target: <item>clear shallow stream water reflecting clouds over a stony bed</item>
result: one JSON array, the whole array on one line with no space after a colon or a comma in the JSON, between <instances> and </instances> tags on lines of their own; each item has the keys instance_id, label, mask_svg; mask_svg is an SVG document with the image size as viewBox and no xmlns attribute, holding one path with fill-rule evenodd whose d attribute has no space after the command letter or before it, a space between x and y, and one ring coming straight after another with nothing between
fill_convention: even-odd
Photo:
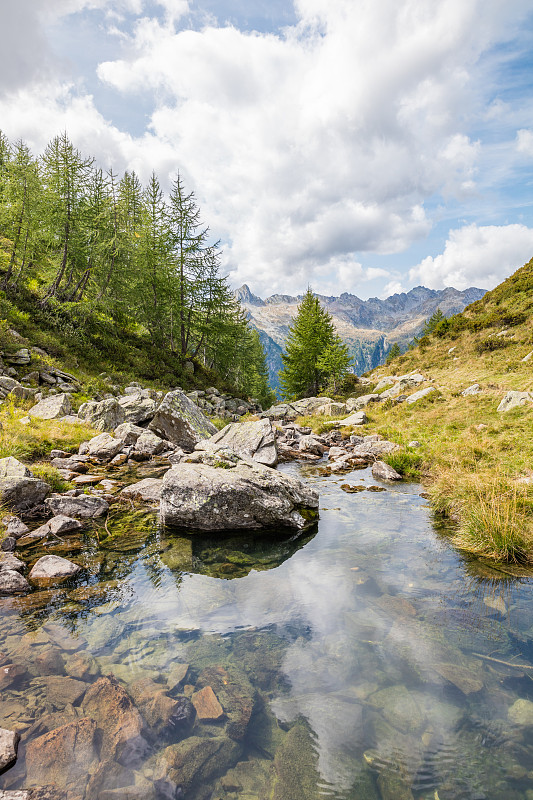
<instances>
[{"instance_id":1,"label":"clear shallow stream water reflecting clouds over a stony bed","mask_svg":"<svg viewBox=\"0 0 533 800\"><path fill-rule=\"evenodd\" d=\"M22 736L0 788L44 782L68 800L533 800L528 574L457 553L417 485L348 494L341 484L374 483L368 470L284 469L320 491L318 529L303 539L187 537L139 517L100 547L69 541L82 578L0 601L4 663L23 666L5 688L0 677L0 724ZM94 658L88 684L113 674L130 691L150 678L174 697L222 670L229 721L197 721L193 738L147 733L127 768L103 751L81 777L26 763L32 740L87 715L83 696L49 691L75 654ZM185 686L170 690L178 663ZM180 739L186 766L171 769Z\"/></svg>"}]
</instances>

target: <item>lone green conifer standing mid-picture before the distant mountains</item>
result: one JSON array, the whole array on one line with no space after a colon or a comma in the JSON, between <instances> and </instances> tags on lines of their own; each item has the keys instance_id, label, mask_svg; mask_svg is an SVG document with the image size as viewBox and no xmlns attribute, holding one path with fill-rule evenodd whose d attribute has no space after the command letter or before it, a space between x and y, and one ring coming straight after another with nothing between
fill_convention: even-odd
<instances>
[{"instance_id":1,"label":"lone green conifer standing mid-picture before the distant mountains","mask_svg":"<svg viewBox=\"0 0 533 800\"><path fill-rule=\"evenodd\" d=\"M320 366L320 360L328 347L335 347L336 341L339 339L330 314L309 288L298 307L285 342L285 351L281 354L283 369L279 377L284 397L290 399L318 393L328 376L328 370Z\"/></svg>"}]
</instances>

